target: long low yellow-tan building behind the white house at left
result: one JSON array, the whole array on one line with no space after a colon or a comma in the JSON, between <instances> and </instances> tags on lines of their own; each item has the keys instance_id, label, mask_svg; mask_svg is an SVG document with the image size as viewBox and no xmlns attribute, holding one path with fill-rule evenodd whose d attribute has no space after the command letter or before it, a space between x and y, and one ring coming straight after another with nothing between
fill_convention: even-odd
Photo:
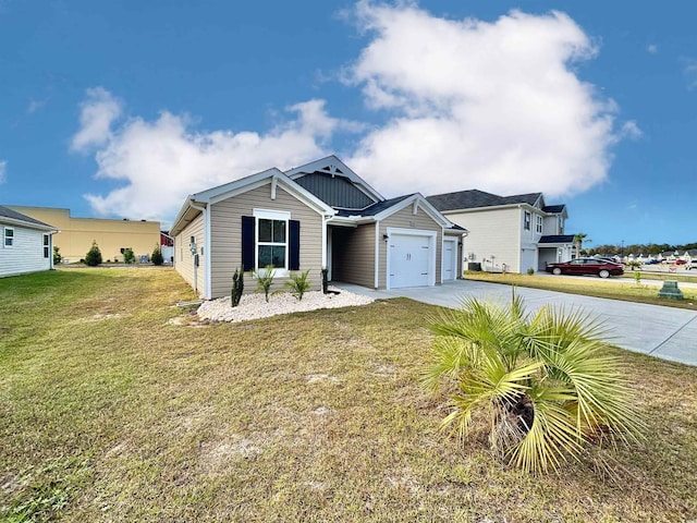
<instances>
[{"instance_id":1,"label":"long low yellow-tan building behind the white house at left","mask_svg":"<svg viewBox=\"0 0 697 523\"><path fill-rule=\"evenodd\" d=\"M70 209L54 207L9 206L36 220L51 223L60 234L56 246L64 263L80 262L93 242L97 242L103 260L123 262L123 253L131 248L136 259L152 254L160 244L160 222L146 220L112 220L103 218L75 218Z\"/></svg>"}]
</instances>

